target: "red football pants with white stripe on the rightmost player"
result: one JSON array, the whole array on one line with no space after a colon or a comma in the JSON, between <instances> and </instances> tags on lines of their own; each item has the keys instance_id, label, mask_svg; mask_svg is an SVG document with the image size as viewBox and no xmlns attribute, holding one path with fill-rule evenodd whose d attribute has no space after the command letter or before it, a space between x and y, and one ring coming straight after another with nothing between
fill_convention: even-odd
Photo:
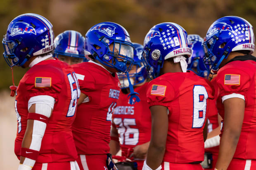
<instances>
[{"instance_id":1,"label":"red football pants with white stripe on the rightmost player","mask_svg":"<svg viewBox=\"0 0 256 170\"><path fill-rule=\"evenodd\" d=\"M233 158L228 170L256 170L256 160Z\"/></svg>"}]
</instances>

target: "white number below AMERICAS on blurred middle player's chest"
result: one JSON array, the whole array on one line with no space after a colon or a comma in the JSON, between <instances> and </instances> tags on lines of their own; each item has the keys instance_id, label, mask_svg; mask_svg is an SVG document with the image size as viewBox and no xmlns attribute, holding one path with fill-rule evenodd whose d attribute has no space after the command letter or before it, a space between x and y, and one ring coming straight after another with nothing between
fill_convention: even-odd
<instances>
[{"instance_id":1,"label":"white number below AMERICAS on blurred middle player's chest","mask_svg":"<svg viewBox=\"0 0 256 170\"><path fill-rule=\"evenodd\" d=\"M130 128L130 126L136 126L135 119L114 118L114 123L118 125L120 144L136 145L139 142L139 129Z\"/></svg>"}]
</instances>

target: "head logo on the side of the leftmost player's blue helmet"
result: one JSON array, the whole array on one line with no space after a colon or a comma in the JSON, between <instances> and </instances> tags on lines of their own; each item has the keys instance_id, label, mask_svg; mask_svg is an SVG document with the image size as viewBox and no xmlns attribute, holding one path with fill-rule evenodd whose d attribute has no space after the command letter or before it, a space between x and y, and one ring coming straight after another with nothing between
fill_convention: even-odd
<instances>
[{"instance_id":1,"label":"head logo on the side of the leftmost player's blue helmet","mask_svg":"<svg viewBox=\"0 0 256 170\"><path fill-rule=\"evenodd\" d=\"M11 29L11 36L24 34L24 33L33 33L36 35L36 29L25 22L17 22Z\"/></svg>"}]
</instances>

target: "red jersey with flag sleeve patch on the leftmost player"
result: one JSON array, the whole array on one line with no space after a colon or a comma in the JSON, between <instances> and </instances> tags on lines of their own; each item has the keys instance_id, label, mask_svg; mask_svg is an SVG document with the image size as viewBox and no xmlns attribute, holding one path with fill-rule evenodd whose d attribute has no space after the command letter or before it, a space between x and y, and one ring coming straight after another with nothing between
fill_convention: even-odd
<instances>
[{"instance_id":1,"label":"red jersey with flag sleeve patch on the leftmost player","mask_svg":"<svg viewBox=\"0 0 256 170\"><path fill-rule=\"evenodd\" d=\"M77 107L73 101L80 95L79 86L76 84L78 83L73 69L59 60L41 61L26 72L19 82L15 100L18 129L14 151L18 158L27 126L28 100L37 95L49 95L55 98L55 105L36 162L76 160L77 152L71 131Z\"/></svg>"}]
</instances>

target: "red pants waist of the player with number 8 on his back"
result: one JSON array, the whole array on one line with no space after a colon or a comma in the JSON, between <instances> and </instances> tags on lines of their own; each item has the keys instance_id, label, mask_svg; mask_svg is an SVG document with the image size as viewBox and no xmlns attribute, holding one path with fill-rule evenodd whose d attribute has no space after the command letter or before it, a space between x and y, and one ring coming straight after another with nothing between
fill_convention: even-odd
<instances>
[{"instance_id":1,"label":"red pants waist of the player with number 8 on his back","mask_svg":"<svg viewBox=\"0 0 256 170\"><path fill-rule=\"evenodd\" d=\"M191 164L191 163L171 163L163 162L162 170L203 170L200 163Z\"/></svg>"}]
</instances>

